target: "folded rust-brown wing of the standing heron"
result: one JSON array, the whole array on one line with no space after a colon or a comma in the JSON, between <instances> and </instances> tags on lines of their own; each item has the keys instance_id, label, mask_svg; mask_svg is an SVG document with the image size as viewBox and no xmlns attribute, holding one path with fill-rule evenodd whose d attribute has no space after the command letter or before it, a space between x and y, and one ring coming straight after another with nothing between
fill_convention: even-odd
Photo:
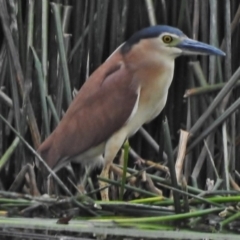
<instances>
[{"instance_id":1,"label":"folded rust-brown wing of the standing heron","mask_svg":"<svg viewBox=\"0 0 240 240\"><path fill-rule=\"evenodd\" d=\"M105 62L86 81L38 152L50 167L107 140L132 113L137 86L122 61Z\"/></svg>"}]
</instances>

